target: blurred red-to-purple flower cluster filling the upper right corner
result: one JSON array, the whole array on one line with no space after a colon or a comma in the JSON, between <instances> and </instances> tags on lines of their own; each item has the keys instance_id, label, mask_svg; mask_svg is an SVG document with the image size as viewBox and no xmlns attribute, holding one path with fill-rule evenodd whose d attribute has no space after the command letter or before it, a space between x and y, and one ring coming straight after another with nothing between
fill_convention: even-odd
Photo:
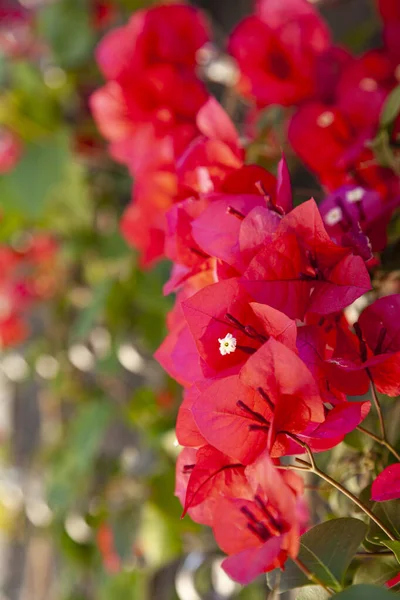
<instances>
[{"instance_id":1,"label":"blurred red-to-purple flower cluster filling the upper right corner","mask_svg":"<svg viewBox=\"0 0 400 600\"><path fill-rule=\"evenodd\" d=\"M332 192L321 206L329 233L358 221L367 234L374 230L374 251L384 247L400 201L398 176L377 162L371 148L382 107L400 80L397 3L377 0L377 8L384 44L361 56L335 46L326 24L303 0L284 7L258 0L255 14L229 42L240 68L238 89L255 108L292 108L290 145Z\"/></svg>"}]
</instances>

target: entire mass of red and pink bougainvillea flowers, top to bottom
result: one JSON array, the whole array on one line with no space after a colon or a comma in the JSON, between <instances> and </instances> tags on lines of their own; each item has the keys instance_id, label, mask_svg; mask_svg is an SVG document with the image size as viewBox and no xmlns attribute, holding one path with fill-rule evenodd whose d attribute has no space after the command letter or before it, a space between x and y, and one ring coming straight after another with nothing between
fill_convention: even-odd
<instances>
[{"instance_id":1,"label":"entire mass of red and pink bougainvillea flowers, top to bottom","mask_svg":"<svg viewBox=\"0 0 400 600\"><path fill-rule=\"evenodd\" d=\"M383 18L393 8L380 6ZM299 550L303 484L282 458L353 431L370 404L348 395L371 384L400 394L400 295L352 324L345 313L371 290L367 265L400 197L366 145L396 84L397 39L387 30L384 48L353 57L306 0L258 0L229 40L254 110L295 108L289 141L329 191L320 207L294 207L284 158L276 176L248 164L196 75L207 40L186 5L136 13L98 49L107 84L92 108L135 176L125 234L144 263L173 262L165 292L176 303L156 358L185 388L176 493L247 583Z\"/></svg>"}]
</instances>

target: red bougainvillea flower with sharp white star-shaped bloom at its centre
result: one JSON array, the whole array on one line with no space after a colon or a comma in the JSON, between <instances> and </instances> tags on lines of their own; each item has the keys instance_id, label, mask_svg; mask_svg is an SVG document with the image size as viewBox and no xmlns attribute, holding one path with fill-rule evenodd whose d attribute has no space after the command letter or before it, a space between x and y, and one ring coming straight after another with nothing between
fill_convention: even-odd
<instances>
[{"instance_id":1,"label":"red bougainvillea flower with sharp white star-shaped bloom at its centre","mask_svg":"<svg viewBox=\"0 0 400 600\"><path fill-rule=\"evenodd\" d=\"M208 376L242 365L270 337L295 349L295 322L251 300L237 279L228 279L203 288L182 304Z\"/></svg>"}]
</instances>

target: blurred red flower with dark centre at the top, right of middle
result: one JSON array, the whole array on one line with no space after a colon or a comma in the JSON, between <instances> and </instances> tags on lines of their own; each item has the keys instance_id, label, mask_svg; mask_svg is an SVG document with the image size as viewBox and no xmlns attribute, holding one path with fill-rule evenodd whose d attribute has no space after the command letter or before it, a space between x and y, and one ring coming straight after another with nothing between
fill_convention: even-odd
<instances>
[{"instance_id":1,"label":"blurred red flower with dark centre at the top, right of middle","mask_svg":"<svg viewBox=\"0 0 400 600\"><path fill-rule=\"evenodd\" d=\"M258 0L228 50L239 65L244 96L259 106L291 106L316 92L317 60L329 46L327 26L305 0L291 0L284 10L276 0Z\"/></svg>"}]
</instances>

